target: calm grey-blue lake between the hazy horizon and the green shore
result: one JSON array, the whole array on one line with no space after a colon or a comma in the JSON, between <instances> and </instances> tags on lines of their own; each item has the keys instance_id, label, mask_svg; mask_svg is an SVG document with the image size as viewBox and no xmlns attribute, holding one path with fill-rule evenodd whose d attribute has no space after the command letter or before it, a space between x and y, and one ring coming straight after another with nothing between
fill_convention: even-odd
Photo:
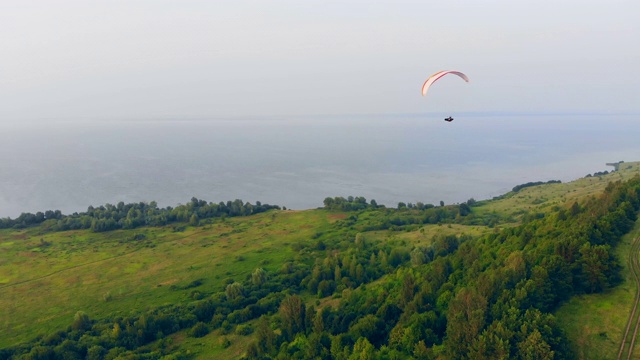
<instances>
[{"instance_id":1,"label":"calm grey-blue lake between the hazy horizon and the green shore","mask_svg":"<svg viewBox=\"0 0 640 360\"><path fill-rule=\"evenodd\" d=\"M193 196L456 203L640 160L638 115L446 115L0 122L0 217Z\"/></svg>"}]
</instances>

